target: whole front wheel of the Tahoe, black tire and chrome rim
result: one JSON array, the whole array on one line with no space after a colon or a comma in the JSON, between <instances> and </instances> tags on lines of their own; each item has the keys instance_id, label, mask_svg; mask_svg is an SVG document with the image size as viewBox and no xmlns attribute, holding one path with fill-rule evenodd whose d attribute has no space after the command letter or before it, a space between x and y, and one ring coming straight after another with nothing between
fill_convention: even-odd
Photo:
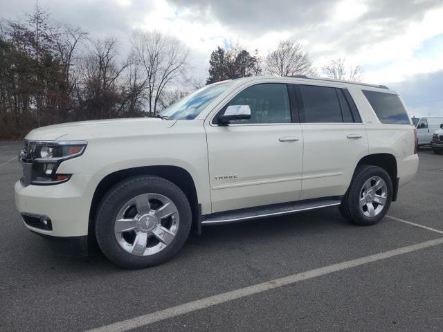
<instances>
[{"instance_id":1,"label":"whole front wheel of the Tahoe, black tire and chrome rim","mask_svg":"<svg viewBox=\"0 0 443 332\"><path fill-rule=\"evenodd\" d=\"M96 237L105 256L125 268L146 268L175 255L188 238L191 208L177 185L157 176L134 176L100 202Z\"/></svg>"}]
</instances>

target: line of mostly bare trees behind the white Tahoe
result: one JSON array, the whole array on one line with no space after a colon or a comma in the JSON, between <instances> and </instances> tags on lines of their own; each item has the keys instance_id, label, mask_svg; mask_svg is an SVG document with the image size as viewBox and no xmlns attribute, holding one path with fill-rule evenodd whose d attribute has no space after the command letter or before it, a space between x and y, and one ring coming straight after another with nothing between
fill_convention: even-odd
<instances>
[{"instance_id":1,"label":"line of mostly bare trees behind the white Tahoe","mask_svg":"<svg viewBox=\"0 0 443 332\"><path fill-rule=\"evenodd\" d=\"M127 55L114 37L91 39L80 27L54 23L35 4L15 21L0 21L0 139L79 120L156 116L204 82L192 76L190 50L159 32L134 30ZM361 80L344 59L321 69L337 79ZM241 46L217 47L206 84L251 75L314 75L303 46L292 39L260 57Z\"/></svg>"}]
</instances>

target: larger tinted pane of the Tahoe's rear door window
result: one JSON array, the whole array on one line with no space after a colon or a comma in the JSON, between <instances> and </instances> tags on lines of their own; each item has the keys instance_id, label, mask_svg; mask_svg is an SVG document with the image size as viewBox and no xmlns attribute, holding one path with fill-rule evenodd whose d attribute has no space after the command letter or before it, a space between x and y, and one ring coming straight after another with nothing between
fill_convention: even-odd
<instances>
[{"instance_id":1,"label":"larger tinted pane of the Tahoe's rear door window","mask_svg":"<svg viewBox=\"0 0 443 332\"><path fill-rule=\"evenodd\" d=\"M300 85L300 92L305 109L305 122L343 122L340 102L335 88Z\"/></svg>"}]
</instances>

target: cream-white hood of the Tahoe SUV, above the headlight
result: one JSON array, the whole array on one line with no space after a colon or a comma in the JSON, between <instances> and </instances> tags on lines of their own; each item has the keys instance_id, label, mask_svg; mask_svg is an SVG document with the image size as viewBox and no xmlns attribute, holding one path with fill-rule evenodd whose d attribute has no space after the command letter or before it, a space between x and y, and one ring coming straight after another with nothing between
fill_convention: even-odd
<instances>
[{"instance_id":1,"label":"cream-white hood of the Tahoe SUV, above the headlight","mask_svg":"<svg viewBox=\"0 0 443 332\"><path fill-rule=\"evenodd\" d=\"M26 140L87 140L108 136L143 135L155 130L170 128L174 120L161 118L128 118L68 122L33 129Z\"/></svg>"}]
</instances>

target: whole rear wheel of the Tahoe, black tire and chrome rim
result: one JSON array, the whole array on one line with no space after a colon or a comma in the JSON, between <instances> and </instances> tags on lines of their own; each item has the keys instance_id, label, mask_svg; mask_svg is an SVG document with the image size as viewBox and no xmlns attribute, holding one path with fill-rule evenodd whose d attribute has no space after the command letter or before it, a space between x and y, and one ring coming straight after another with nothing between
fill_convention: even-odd
<instances>
[{"instance_id":1,"label":"whole rear wheel of the Tahoe, black tire and chrome rim","mask_svg":"<svg viewBox=\"0 0 443 332\"><path fill-rule=\"evenodd\" d=\"M340 210L358 225L374 225L388 212L392 201L392 181L381 167L362 165L354 174Z\"/></svg>"}]
</instances>

